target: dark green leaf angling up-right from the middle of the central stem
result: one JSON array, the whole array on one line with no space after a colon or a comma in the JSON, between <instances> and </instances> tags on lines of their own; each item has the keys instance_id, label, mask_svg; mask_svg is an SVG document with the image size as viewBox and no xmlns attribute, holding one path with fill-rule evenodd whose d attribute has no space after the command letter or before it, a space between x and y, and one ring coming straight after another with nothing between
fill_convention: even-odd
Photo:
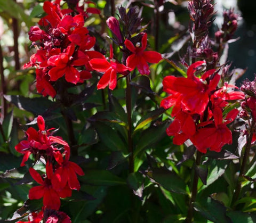
<instances>
[{"instance_id":1,"label":"dark green leaf angling up-right from the middle of the central stem","mask_svg":"<svg viewBox=\"0 0 256 223\"><path fill-rule=\"evenodd\" d=\"M139 137L139 142L134 151L134 157L138 156L146 148L161 141L166 136L166 128L170 125L170 122L164 122L157 126L150 126L144 130Z\"/></svg>"}]
</instances>

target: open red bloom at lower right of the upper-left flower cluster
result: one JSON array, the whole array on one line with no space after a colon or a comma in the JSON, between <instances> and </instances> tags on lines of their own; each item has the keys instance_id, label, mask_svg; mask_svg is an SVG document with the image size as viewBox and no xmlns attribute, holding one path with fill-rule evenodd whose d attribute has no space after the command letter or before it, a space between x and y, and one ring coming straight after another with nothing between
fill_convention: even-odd
<instances>
[{"instance_id":1,"label":"open red bloom at lower right of the upper-left flower cluster","mask_svg":"<svg viewBox=\"0 0 256 223\"><path fill-rule=\"evenodd\" d=\"M77 51L75 54L74 52L75 45L69 45L65 53L49 58L48 64L55 66L49 70L50 80L55 81L65 75L68 82L76 84L79 81L80 74L74 66L84 65L88 61L88 57L82 51Z\"/></svg>"}]
</instances>

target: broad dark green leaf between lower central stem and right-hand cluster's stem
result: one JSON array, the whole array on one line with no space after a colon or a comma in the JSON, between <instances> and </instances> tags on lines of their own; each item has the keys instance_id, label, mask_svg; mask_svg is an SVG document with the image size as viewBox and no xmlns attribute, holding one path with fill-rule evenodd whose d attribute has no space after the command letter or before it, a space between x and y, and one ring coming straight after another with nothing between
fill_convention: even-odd
<instances>
[{"instance_id":1,"label":"broad dark green leaf between lower central stem and right-hand cluster's stem","mask_svg":"<svg viewBox=\"0 0 256 223\"><path fill-rule=\"evenodd\" d=\"M147 173L147 176L168 191L181 194L187 193L185 182L178 175L169 170L153 169Z\"/></svg>"}]
</instances>

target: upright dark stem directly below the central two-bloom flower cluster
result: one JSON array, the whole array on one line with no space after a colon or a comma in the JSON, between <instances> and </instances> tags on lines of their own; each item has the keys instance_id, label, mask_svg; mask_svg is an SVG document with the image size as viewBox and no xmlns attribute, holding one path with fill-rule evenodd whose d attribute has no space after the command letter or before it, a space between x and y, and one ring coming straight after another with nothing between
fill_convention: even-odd
<instances>
[{"instance_id":1,"label":"upright dark stem directly below the central two-bloom flower cluster","mask_svg":"<svg viewBox=\"0 0 256 223\"><path fill-rule=\"evenodd\" d=\"M129 149L129 170L134 172L134 157L133 157L133 145L132 145L132 98L131 98L131 74L126 76L126 110L127 110L127 121L128 121L128 149Z\"/></svg>"}]
</instances>

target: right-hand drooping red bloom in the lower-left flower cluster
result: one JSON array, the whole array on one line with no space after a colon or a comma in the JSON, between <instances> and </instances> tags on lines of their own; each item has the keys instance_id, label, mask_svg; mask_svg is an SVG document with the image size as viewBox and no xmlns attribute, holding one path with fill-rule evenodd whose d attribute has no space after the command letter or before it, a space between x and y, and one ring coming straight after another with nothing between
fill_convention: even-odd
<instances>
[{"instance_id":1,"label":"right-hand drooping red bloom in the lower-left flower cluster","mask_svg":"<svg viewBox=\"0 0 256 223\"><path fill-rule=\"evenodd\" d=\"M78 174L79 176L83 176L84 172L76 163L69 161L70 148L65 148L65 159L62 158L62 154L59 151L54 153L55 160L58 162L59 167L54 172L52 184L58 191L66 187L67 184L70 189L76 189L79 191L80 184L76 175Z\"/></svg>"}]
</instances>

